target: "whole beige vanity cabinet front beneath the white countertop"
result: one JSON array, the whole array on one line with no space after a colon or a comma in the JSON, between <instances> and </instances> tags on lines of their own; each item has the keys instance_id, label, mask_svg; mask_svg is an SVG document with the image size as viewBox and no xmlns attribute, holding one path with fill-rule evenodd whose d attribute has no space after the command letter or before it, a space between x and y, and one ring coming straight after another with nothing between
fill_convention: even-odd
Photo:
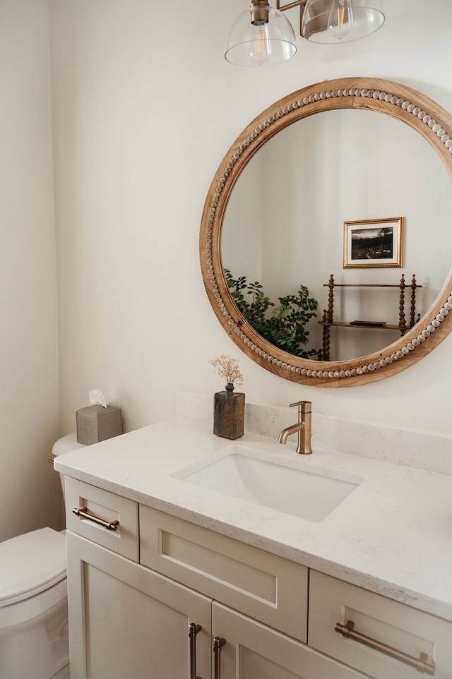
<instances>
[{"instance_id":1,"label":"whole beige vanity cabinet front beneath the white countertop","mask_svg":"<svg viewBox=\"0 0 452 679\"><path fill-rule=\"evenodd\" d=\"M71 679L452 678L452 623L66 481Z\"/></svg>"}]
</instances>

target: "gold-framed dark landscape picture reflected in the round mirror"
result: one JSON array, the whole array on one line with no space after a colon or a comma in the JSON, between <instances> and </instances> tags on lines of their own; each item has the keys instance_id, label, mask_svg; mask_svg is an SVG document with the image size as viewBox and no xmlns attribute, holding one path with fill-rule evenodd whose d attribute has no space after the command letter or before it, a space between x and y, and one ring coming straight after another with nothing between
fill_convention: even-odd
<instances>
[{"instance_id":1,"label":"gold-framed dark landscape picture reflected in the round mirror","mask_svg":"<svg viewBox=\"0 0 452 679\"><path fill-rule=\"evenodd\" d=\"M344 269L402 266L403 217L344 222Z\"/></svg>"}]
</instances>

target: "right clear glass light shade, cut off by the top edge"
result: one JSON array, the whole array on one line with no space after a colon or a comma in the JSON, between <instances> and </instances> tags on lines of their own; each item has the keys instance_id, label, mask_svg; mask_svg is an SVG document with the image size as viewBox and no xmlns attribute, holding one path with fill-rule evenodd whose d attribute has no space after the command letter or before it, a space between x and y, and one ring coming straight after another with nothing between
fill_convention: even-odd
<instances>
[{"instance_id":1,"label":"right clear glass light shade, cut off by the top edge","mask_svg":"<svg viewBox=\"0 0 452 679\"><path fill-rule=\"evenodd\" d=\"M307 0L302 36L311 42L351 42L384 23L382 0Z\"/></svg>"}]
</instances>

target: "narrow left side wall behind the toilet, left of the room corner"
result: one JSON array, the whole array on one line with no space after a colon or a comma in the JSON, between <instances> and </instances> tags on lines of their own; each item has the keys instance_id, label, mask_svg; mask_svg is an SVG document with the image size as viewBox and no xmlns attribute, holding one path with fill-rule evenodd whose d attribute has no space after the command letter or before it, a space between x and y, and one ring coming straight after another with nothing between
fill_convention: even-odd
<instances>
[{"instance_id":1,"label":"narrow left side wall behind the toilet, left of the room corner","mask_svg":"<svg viewBox=\"0 0 452 679\"><path fill-rule=\"evenodd\" d=\"M62 516L47 0L0 1L0 90L2 541Z\"/></svg>"}]
</instances>

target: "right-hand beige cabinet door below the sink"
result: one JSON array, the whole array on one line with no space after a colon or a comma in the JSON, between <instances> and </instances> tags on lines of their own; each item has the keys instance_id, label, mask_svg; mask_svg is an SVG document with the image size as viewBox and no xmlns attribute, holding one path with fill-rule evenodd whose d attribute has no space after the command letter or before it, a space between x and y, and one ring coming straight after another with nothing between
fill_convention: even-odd
<instances>
[{"instance_id":1,"label":"right-hand beige cabinet door below the sink","mask_svg":"<svg viewBox=\"0 0 452 679\"><path fill-rule=\"evenodd\" d=\"M216 601L213 637L224 639L215 679L366 679L271 627Z\"/></svg>"}]
</instances>

